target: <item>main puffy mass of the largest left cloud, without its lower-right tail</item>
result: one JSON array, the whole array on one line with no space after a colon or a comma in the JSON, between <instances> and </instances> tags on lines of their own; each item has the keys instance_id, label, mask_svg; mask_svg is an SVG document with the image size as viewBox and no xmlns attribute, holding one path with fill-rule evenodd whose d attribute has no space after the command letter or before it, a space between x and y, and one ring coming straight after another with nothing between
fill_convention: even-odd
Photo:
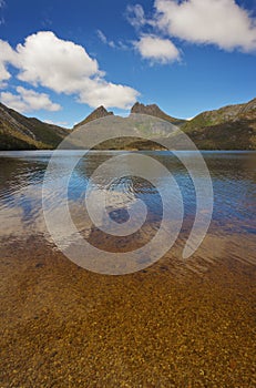
<instances>
[{"instance_id":1,"label":"main puffy mass of the largest left cloud, without its lower-right tail","mask_svg":"<svg viewBox=\"0 0 256 388\"><path fill-rule=\"evenodd\" d=\"M18 44L19 80L41 84L55 92L74 93L81 82L100 74L98 62L86 51L70 41L64 41L50 31L40 31Z\"/></svg>"}]
</instances>

